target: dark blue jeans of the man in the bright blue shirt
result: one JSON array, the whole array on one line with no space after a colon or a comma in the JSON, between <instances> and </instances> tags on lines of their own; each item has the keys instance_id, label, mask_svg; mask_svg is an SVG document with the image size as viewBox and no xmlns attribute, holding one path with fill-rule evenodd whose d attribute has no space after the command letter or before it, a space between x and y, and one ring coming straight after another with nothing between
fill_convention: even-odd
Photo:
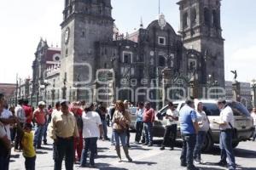
<instances>
[{"instance_id":1,"label":"dark blue jeans of the man in the bright blue shirt","mask_svg":"<svg viewBox=\"0 0 256 170\"><path fill-rule=\"evenodd\" d=\"M182 163L187 163L187 169L194 169L193 151L195 149L195 134L182 134L183 150L181 152L180 160Z\"/></svg>"}]
</instances>

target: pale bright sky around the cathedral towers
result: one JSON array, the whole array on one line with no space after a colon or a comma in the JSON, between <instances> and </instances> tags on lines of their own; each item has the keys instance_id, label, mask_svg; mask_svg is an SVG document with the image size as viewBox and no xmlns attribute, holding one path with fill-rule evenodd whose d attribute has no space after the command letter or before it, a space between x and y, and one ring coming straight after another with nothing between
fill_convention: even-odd
<instances>
[{"instance_id":1,"label":"pale bright sky around the cathedral towers","mask_svg":"<svg viewBox=\"0 0 256 170\"><path fill-rule=\"evenodd\" d=\"M179 28L178 0L160 0L160 12L175 31ZM121 32L131 32L157 19L158 0L112 0L113 19ZM49 46L61 44L64 0L8 0L0 6L0 82L32 77L32 61L40 38ZM256 78L256 1L222 0L221 24L225 79L250 82Z\"/></svg>"}]
</instances>

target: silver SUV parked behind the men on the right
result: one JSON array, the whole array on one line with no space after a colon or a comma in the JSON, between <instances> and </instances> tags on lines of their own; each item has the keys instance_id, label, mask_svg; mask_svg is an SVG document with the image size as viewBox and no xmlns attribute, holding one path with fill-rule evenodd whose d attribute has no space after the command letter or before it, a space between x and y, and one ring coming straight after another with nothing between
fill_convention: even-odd
<instances>
[{"instance_id":1,"label":"silver SUV parked behind the men on the right","mask_svg":"<svg viewBox=\"0 0 256 170\"><path fill-rule=\"evenodd\" d=\"M201 99L204 107L203 110L207 113L210 121L210 130L207 132L207 138L202 150L211 150L213 144L219 143L219 127L218 124L212 123L213 120L218 121L220 111L218 110L217 100ZM185 105L184 100L173 102L177 111ZM233 139L233 147L235 148L239 142L249 140L254 132L253 119L250 113L247 111L246 107L240 102L227 101L234 112L235 117L235 132L236 138ZM154 122L153 135L155 137L163 137L165 133L167 120L165 119L166 111L168 106L163 107L156 116L156 121ZM180 138L180 126L177 125L177 138Z\"/></svg>"}]
</instances>

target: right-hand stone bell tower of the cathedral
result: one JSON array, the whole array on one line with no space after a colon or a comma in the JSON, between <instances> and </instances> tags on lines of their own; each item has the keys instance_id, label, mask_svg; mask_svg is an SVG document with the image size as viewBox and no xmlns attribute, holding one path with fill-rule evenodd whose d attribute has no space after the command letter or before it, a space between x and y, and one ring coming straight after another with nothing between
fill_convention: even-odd
<instances>
[{"instance_id":1,"label":"right-hand stone bell tower of the cathedral","mask_svg":"<svg viewBox=\"0 0 256 170\"><path fill-rule=\"evenodd\" d=\"M185 48L201 53L202 82L211 75L224 87L224 38L220 26L221 0L180 0L180 34Z\"/></svg>"}]
</instances>

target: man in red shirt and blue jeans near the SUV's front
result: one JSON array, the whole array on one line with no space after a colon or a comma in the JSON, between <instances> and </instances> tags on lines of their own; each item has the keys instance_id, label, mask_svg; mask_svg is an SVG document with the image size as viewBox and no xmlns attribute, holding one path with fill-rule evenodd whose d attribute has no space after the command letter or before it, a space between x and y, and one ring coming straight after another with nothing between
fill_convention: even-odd
<instances>
[{"instance_id":1,"label":"man in red shirt and blue jeans near the SUV's front","mask_svg":"<svg viewBox=\"0 0 256 170\"><path fill-rule=\"evenodd\" d=\"M143 145L152 146L153 145L152 127L154 122L154 109L151 108L149 102L145 102L144 107L145 107L145 110L143 113L143 126L144 126L146 141Z\"/></svg>"}]
</instances>

